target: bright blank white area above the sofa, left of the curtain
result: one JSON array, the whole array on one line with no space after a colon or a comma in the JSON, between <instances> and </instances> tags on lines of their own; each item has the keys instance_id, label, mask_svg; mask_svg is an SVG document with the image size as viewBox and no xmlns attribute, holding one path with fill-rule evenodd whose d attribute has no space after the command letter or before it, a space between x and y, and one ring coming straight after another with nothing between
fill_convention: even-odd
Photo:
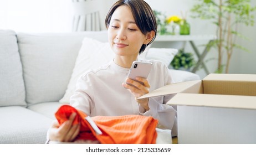
<instances>
[{"instance_id":1,"label":"bright blank white area above the sofa, left of the curtain","mask_svg":"<svg viewBox=\"0 0 256 155\"><path fill-rule=\"evenodd\" d=\"M0 0L0 29L70 32L71 0Z\"/></svg>"}]
</instances>

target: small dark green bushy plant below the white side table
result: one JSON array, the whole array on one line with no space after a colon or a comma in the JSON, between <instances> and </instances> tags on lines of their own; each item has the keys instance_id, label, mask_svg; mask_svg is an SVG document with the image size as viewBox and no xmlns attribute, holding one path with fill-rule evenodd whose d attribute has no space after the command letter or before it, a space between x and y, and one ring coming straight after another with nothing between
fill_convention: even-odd
<instances>
[{"instance_id":1,"label":"small dark green bushy plant below the white side table","mask_svg":"<svg viewBox=\"0 0 256 155\"><path fill-rule=\"evenodd\" d=\"M173 69L190 71L195 61L192 53L186 53L184 49L180 49L171 61Z\"/></svg>"}]
</instances>

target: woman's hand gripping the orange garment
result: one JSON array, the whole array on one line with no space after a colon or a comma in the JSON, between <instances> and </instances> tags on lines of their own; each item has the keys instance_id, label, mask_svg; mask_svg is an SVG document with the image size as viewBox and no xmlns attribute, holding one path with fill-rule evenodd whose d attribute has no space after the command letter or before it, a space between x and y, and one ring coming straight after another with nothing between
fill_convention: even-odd
<instances>
[{"instance_id":1,"label":"woman's hand gripping the orange garment","mask_svg":"<svg viewBox=\"0 0 256 155\"><path fill-rule=\"evenodd\" d=\"M50 141L71 142L78 136L80 131L80 124L72 125L75 119L76 113L72 113L68 121L65 121L62 125L59 125L58 121L54 121L49 129Z\"/></svg>"}]
</instances>

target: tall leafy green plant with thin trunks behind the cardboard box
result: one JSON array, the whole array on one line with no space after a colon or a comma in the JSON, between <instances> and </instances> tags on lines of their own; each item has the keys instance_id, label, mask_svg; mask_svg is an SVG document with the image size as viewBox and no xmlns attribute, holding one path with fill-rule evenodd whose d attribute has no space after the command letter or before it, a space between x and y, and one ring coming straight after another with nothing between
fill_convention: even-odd
<instances>
[{"instance_id":1,"label":"tall leafy green plant with thin trunks behind the cardboard box","mask_svg":"<svg viewBox=\"0 0 256 155\"><path fill-rule=\"evenodd\" d=\"M236 38L244 39L239 33L238 25L253 25L252 14L256 7L250 6L250 0L198 0L198 4L191 9L193 18L208 19L216 25L217 39L212 42L218 51L218 68L216 73L223 73L223 66L226 66L225 73L228 73L229 63L234 48L248 51L237 44ZM223 55L227 55L226 62L223 62Z\"/></svg>"}]
</instances>

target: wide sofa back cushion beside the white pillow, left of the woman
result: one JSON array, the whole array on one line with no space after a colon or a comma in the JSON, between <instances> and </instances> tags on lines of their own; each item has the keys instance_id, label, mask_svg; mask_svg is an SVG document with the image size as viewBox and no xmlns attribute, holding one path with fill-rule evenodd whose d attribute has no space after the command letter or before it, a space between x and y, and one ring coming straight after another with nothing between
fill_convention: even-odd
<instances>
[{"instance_id":1,"label":"wide sofa back cushion beside the white pillow, left of the woman","mask_svg":"<svg viewBox=\"0 0 256 155\"><path fill-rule=\"evenodd\" d=\"M106 31L17 34L28 105L63 97L84 37L107 41Z\"/></svg>"}]
</instances>

